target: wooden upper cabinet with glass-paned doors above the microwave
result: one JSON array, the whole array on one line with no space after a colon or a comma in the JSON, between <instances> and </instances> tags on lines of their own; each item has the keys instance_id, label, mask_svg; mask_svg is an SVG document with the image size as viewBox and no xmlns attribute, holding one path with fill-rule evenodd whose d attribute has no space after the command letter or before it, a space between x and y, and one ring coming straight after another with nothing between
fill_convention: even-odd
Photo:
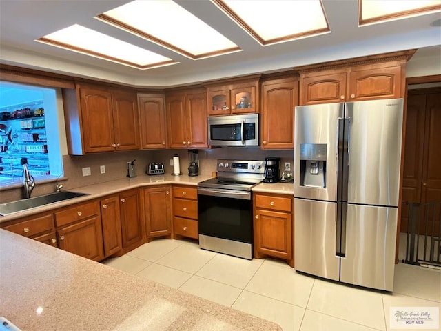
<instances>
[{"instance_id":1,"label":"wooden upper cabinet with glass-paned doors above the microwave","mask_svg":"<svg viewBox=\"0 0 441 331\"><path fill-rule=\"evenodd\" d=\"M259 77L223 81L207 87L208 115L249 114L259 112Z\"/></svg>"}]
</instances>

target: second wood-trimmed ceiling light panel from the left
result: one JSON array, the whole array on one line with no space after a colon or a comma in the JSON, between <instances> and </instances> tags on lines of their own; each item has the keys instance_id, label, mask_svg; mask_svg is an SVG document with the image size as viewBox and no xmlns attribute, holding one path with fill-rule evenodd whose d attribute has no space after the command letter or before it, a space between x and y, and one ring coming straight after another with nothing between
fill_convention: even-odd
<instances>
[{"instance_id":1,"label":"second wood-trimmed ceiling light panel from the left","mask_svg":"<svg viewBox=\"0 0 441 331\"><path fill-rule=\"evenodd\" d=\"M96 17L191 59L235 52L238 46L171 0L137 0Z\"/></svg>"}]
</instances>

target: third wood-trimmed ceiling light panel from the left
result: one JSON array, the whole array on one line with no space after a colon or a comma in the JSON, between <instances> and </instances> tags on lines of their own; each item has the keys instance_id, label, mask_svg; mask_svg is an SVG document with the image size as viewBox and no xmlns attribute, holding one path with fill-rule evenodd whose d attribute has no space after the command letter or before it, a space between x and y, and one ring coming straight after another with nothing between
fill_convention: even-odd
<instances>
[{"instance_id":1,"label":"third wood-trimmed ceiling light panel from the left","mask_svg":"<svg viewBox=\"0 0 441 331\"><path fill-rule=\"evenodd\" d=\"M212 0L262 45L329 32L320 0Z\"/></svg>"}]
</instances>

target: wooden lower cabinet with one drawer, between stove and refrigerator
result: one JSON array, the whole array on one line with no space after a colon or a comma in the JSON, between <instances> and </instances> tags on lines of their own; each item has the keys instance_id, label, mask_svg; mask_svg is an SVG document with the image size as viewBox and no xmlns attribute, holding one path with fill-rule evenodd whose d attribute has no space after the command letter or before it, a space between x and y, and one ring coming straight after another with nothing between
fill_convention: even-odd
<instances>
[{"instance_id":1,"label":"wooden lower cabinet with one drawer, between stove and refrigerator","mask_svg":"<svg viewBox=\"0 0 441 331\"><path fill-rule=\"evenodd\" d=\"M284 259L294 268L293 198L253 194L254 258Z\"/></svg>"}]
</instances>

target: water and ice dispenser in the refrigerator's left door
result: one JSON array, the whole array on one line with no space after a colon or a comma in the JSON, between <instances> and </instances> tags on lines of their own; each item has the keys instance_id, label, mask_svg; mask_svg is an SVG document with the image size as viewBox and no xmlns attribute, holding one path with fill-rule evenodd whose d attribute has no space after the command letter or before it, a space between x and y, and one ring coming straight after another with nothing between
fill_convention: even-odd
<instances>
[{"instance_id":1,"label":"water and ice dispenser in the refrigerator's left door","mask_svg":"<svg viewBox=\"0 0 441 331\"><path fill-rule=\"evenodd\" d=\"M325 143L300 144L300 186L326 188Z\"/></svg>"}]
</instances>

